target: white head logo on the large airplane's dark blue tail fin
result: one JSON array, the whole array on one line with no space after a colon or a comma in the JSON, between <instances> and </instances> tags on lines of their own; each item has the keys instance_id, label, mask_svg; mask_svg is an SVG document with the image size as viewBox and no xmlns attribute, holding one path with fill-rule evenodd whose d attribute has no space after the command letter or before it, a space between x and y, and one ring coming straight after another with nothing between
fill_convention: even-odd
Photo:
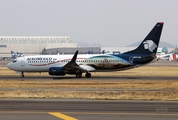
<instances>
[{"instance_id":1,"label":"white head logo on the large airplane's dark blue tail fin","mask_svg":"<svg viewBox=\"0 0 178 120\"><path fill-rule=\"evenodd\" d=\"M144 45L144 48L148 49L150 52L153 52L157 48L157 45L152 40L144 41L143 45Z\"/></svg>"}]
</instances>

